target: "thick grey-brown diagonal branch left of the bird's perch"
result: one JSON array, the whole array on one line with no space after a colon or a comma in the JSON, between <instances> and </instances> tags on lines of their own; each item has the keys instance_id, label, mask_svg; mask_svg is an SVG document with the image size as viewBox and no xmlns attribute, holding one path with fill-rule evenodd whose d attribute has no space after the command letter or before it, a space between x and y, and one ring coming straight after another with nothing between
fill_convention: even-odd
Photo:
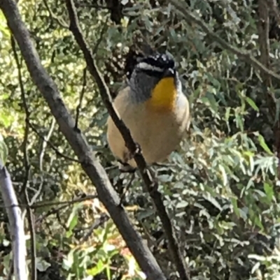
<instances>
[{"instance_id":1,"label":"thick grey-brown diagonal branch left of the bird's perch","mask_svg":"<svg viewBox=\"0 0 280 280\"><path fill-rule=\"evenodd\" d=\"M116 223L120 234L123 236L130 251L132 251L141 270L146 273L148 279L166 280L151 251L132 226L125 209L120 205L120 198L113 189L104 168L92 155L92 151L83 135L75 129L75 121L69 115L60 97L57 85L45 71L45 68L43 68L38 53L31 42L27 27L22 22L15 1L0 0L0 8L3 10L8 27L20 47L31 79L48 103L52 115L59 124L60 130L78 156L83 170L85 170L92 183L96 186L99 200L105 205L114 223Z\"/></svg>"}]
</instances>

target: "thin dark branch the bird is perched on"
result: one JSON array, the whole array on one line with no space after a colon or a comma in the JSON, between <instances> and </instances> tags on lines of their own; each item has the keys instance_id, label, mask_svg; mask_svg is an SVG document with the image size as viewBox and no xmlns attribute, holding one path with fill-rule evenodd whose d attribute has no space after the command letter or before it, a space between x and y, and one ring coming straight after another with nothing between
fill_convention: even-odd
<instances>
[{"instance_id":1,"label":"thin dark branch the bird is perched on","mask_svg":"<svg viewBox=\"0 0 280 280\"><path fill-rule=\"evenodd\" d=\"M148 193L150 193L151 198L153 198L155 208L157 209L158 215L160 216L162 226L165 230L165 234L167 235L167 239L169 241L169 249L172 253L176 269L179 272L181 280L188 280L189 277L186 268L186 263L181 254L181 250L176 240L176 234L174 233L174 228L165 209L165 205L162 202L161 193L158 191L158 182L156 182L155 179L152 178L151 173L148 171L148 168L146 166L144 157L141 155L141 152L137 148L137 145L135 144L134 140L132 139L130 131L127 129L123 121L118 117L116 111L113 108L109 89L104 82L104 78L99 73L97 65L94 59L92 58L92 54L90 53L90 49L87 47L87 43L85 42L83 34L80 30L73 0L66 0L66 6L68 9L70 20L69 28L72 31L73 36L75 37L78 45L80 46L80 49L83 51L88 71L97 83L102 100L106 105L106 108L109 111L109 114L113 119L114 123L116 124L118 130L123 135L123 139L125 140L127 148L130 150L130 153L134 155L134 159L139 168L140 175L144 181L144 186L146 187Z\"/></svg>"}]
</instances>

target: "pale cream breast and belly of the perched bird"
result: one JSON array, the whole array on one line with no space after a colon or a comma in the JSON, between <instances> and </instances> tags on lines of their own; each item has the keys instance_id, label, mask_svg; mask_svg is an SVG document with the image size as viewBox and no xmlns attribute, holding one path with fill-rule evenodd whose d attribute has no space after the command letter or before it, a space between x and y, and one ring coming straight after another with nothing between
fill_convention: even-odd
<instances>
[{"instance_id":1,"label":"pale cream breast and belly of the perched bird","mask_svg":"<svg viewBox=\"0 0 280 280\"><path fill-rule=\"evenodd\" d=\"M153 112L145 103L128 103L128 91L122 91L116 97L114 106L118 114L130 129L132 138L141 146L141 152L148 164L164 161L179 145L189 121L188 100L182 96L180 106L171 112ZM111 117L108 120L107 138L113 154L127 162L128 152L122 135ZM137 167L134 160L128 163Z\"/></svg>"}]
</instances>

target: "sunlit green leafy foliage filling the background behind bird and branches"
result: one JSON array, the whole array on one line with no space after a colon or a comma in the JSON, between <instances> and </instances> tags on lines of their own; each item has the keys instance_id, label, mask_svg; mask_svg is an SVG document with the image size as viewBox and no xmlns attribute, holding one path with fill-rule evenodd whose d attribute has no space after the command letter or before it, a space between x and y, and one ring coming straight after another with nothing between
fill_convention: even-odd
<instances>
[{"instance_id":1,"label":"sunlit green leafy foliage filling the background behind bird and branches","mask_svg":"<svg viewBox=\"0 0 280 280\"><path fill-rule=\"evenodd\" d=\"M280 80L260 71L262 65L274 73L279 69L279 8L265 0L181 0L192 18L173 2L75 4L112 96L124 80L129 47L141 40L168 50L179 65L191 103L191 133L156 170L191 279L280 279L275 157L280 153ZM167 277L176 279L151 198L137 174L118 171L106 144L108 113L69 31L64 1L20 1L18 7L43 66L71 114L78 112L78 126L123 196L130 218ZM24 201L27 190L33 205L39 279L142 279L31 82L1 12L0 65L0 134L18 198ZM0 279L10 271L7 221L1 211ZM28 226L26 233L30 251ZM31 253L27 258L30 265Z\"/></svg>"}]
</instances>

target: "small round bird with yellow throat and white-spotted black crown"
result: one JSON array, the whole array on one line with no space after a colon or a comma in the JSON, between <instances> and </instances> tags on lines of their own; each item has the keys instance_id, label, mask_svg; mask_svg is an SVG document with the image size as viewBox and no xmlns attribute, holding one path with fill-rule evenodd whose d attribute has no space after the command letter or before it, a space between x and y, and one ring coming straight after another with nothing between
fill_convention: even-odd
<instances>
[{"instance_id":1,"label":"small round bird with yellow throat and white-spotted black crown","mask_svg":"<svg viewBox=\"0 0 280 280\"><path fill-rule=\"evenodd\" d=\"M182 92L175 61L158 52L139 56L127 72L127 79L113 107L141 147L146 163L165 161L190 126L190 106ZM111 117L107 121L107 140L123 166L137 168Z\"/></svg>"}]
</instances>

